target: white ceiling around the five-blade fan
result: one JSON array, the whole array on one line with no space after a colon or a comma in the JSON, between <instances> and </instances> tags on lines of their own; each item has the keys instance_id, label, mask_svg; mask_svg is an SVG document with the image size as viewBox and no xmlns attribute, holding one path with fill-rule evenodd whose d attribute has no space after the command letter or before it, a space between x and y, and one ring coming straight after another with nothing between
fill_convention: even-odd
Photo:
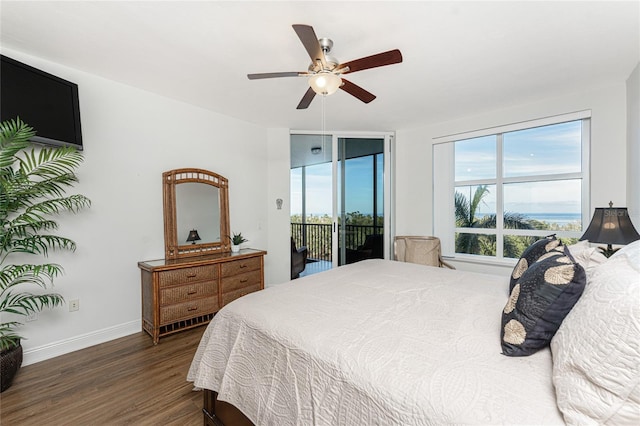
<instances>
[{"instance_id":1,"label":"white ceiling around the five-blade fan","mask_svg":"<svg viewBox=\"0 0 640 426\"><path fill-rule=\"evenodd\" d=\"M292 24L341 62L398 48L401 64L353 73L378 96L325 99L326 128L386 131L624 81L640 60L640 2L4 1L2 47L265 127L317 130L322 98L296 105L309 56ZM82 88L80 88L82 90Z\"/></svg>"}]
</instances>

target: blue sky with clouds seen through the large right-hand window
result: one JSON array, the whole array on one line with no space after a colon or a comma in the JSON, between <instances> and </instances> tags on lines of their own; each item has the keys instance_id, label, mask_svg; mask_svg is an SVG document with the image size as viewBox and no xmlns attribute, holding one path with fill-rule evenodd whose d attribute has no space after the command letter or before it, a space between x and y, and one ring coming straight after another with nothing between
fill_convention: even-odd
<instances>
[{"instance_id":1,"label":"blue sky with clouds seen through the large right-hand window","mask_svg":"<svg viewBox=\"0 0 640 426\"><path fill-rule=\"evenodd\" d=\"M497 174L495 136L455 143L455 180L465 182L495 179ZM505 179L531 175L580 173L582 169L582 122L536 127L504 134L503 175ZM469 187L460 185L468 194ZM474 186L475 189L475 186ZM482 206L483 213L495 213L496 186ZM509 183L504 186L505 210L518 213L575 213L581 210L581 180Z\"/></svg>"}]
</instances>

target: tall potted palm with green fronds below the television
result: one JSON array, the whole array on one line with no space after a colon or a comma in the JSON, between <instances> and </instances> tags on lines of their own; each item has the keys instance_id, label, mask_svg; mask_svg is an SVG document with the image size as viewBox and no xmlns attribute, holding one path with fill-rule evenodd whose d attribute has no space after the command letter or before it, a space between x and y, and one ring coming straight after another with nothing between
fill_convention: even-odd
<instances>
[{"instance_id":1,"label":"tall potted palm with green fronds below the television","mask_svg":"<svg viewBox=\"0 0 640 426\"><path fill-rule=\"evenodd\" d=\"M65 195L65 188L78 181L74 170L83 160L81 153L72 147L28 150L34 135L20 119L0 123L1 391L11 385L22 364L18 316L64 303L60 294L47 292L62 267L23 262L31 255L46 257L49 250L74 251L75 242L53 234L58 224L51 217L91 205L83 195Z\"/></svg>"}]
</instances>

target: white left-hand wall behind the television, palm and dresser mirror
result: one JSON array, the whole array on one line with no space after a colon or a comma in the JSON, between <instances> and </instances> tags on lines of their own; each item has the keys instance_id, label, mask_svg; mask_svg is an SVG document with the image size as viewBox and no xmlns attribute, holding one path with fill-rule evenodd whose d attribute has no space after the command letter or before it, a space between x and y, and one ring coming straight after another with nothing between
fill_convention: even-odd
<instances>
[{"instance_id":1,"label":"white left-hand wall behind the television, palm and dresser mirror","mask_svg":"<svg viewBox=\"0 0 640 426\"><path fill-rule=\"evenodd\" d=\"M19 52L3 54L78 84L85 161L74 192L92 200L90 209L59 220L59 234L77 251L50 259L66 272L55 289L67 301L80 299L80 310L47 310L26 323L25 365L141 330L137 262L164 255L163 171L198 167L227 177L231 229L249 239L247 246L267 248L266 129Z\"/></svg>"}]
</instances>

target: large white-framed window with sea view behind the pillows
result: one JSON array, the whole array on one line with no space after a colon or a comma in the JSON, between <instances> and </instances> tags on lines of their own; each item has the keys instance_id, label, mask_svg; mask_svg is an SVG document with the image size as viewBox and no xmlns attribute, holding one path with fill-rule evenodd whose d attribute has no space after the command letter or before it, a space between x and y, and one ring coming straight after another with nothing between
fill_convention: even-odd
<instances>
[{"instance_id":1,"label":"large white-framed window with sea view behind the pillows","mask_svg":"<svg viewBox=\"0 0 640 426\"><path fill-rule=\"evenodd\" d=\"M434 145L443 252L517 259L545 235L577 241L588 218L589 122L556 117Z\"/></svg>"}]
</instances>

